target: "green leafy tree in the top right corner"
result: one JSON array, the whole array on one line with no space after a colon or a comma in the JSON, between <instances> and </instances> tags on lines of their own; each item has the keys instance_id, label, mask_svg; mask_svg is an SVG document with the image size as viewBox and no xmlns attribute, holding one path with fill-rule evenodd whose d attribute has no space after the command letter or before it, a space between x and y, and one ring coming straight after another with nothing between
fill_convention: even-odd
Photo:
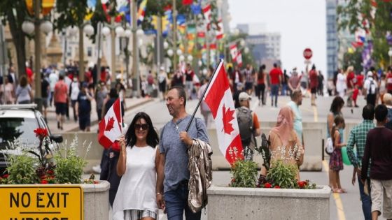
<instances>
[{"instance_id":1,"label":"green leafy tree in the top right corner","mask_svg":"<svg viewBox=\"0 0 392 220\"><path fill-rule=\"evenodd\" d=\"M375 13L372 17L374 6ZM354 34L357 29L369 31L374 46L372 58L380 66L388 60L389 46L386 34L387 31L392 30L391 10L392 1L387 0L351 0L337 7L338 30L348 29L351 34Z\"/></svg>"}]
</instances>

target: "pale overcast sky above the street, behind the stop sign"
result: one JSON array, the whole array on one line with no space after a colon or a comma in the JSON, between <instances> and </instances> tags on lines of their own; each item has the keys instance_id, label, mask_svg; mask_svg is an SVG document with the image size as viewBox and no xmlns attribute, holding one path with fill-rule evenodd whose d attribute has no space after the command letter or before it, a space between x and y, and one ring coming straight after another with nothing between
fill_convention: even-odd
<instances>
[{"instance_id":1,"label":"pale overcast sky above the street, behind the stop sign","mask_svg":"<svg viewBox=\"0 0 392 220\"><path fill-rule=\"evenodd\" d=\"M237 24L265 23L267 32L281 34L282 69L304 69L302 52L313 51L311 61L326 73L325 0L228 0L232 17L230 28Z\"/></svg>"}]
</instances>

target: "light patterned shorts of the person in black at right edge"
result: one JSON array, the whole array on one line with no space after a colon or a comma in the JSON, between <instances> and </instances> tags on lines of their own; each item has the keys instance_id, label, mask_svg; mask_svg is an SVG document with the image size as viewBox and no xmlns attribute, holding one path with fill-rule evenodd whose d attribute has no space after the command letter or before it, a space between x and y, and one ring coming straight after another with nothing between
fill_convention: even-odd
<instances>
[{"instance_id":1,"label":"light patterned shorts of the person in black at right edge","mask_svg":"<svg viewBox=\"0 0 392 220\"><path fill-rule=\"evenodd\" d=\"M392 219L392 179L370 179L370 196L372 197L372 212L379 211L386 219Z\"/></svg>"}]
</instances>

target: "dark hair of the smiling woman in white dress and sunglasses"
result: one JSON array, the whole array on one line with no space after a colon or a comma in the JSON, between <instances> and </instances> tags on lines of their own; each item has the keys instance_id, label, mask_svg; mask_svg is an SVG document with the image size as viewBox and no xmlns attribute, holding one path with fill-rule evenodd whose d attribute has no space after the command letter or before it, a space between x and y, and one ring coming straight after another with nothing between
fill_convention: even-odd
<instances>
[{"instance_id":1,"label":"dark hair of the smiling woman in white dress and sunglasses","mask_svg":"<svg viewBox=\"0 0 392 220\"><path fill-rule=\"evenodd\" d=\"M153 122L151 122L150 116L146 114L146 112L138 112L134 119L132 120L130 127L127 130L127 133L125 134L125 142L127 146L133 147L136 144L136 134L135 134L135 124L139 119L144 119L146 120L148 124L148 133L147 133L147 144L151 147L154 147L158 145L159 143L159 138L158 138L158 133L155 131Z\"/></svg>"}]
</instances>

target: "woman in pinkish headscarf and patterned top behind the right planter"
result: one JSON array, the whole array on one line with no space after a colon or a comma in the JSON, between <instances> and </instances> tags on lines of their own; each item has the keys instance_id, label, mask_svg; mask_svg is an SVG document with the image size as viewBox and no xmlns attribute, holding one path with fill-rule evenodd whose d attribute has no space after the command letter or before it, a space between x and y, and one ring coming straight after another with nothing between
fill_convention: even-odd
<instances>
[{"instance_id":1,"label":"woman in pinkish headscarf and patterned top behind the right planter","mask_svg":"<svg viewBox=\"0 0 392 220\"><path fill-rule=\"evenodd\" d=\"M293 111L289 106L281 108L276 126L269 131L269 141L271 142L271 164L274 161L282 160L284 163L293 164L297 167L296 177L300 181L300 170L304 160L304 149L300 138L297 137L293 128ZM273 165L272 165L273 166ZM262 175L266 175L266 170L262 170Z\"/></svg>"}]
</instances>

